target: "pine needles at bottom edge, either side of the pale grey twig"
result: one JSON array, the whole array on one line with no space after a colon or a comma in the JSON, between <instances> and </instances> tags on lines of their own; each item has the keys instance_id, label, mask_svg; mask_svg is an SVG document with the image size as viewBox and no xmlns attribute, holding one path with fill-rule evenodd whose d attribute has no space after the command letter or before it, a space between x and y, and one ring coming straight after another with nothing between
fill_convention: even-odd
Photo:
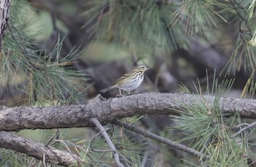
<instances>
[{"instance_id":1,"label":"pine needles at bottom edge, either side of the pale grey twig","mask_svg":"<svg viewBox=\"0 0 256 167\"><path fill-rule=\"evenodd\" d=\"M143 149L143 145L140 143L133 142L132 137L124 133L123 130L124 129L115 127L114 130L109 133L111 141L115 143L120 160L127 163L128 166L140 164L141 154L143 154L145 149ZM94 140L78 141L76 144L83 144L83 147L77 147L78 154L83 158L83 166L108 166L107 164L115 163L112 152L104 151L109 150L109 147L100 136L95 137ZM91 150L91 144L94 149L98 149L99 151ZM102 150L102 152L100 150Z\"/></svg>"}]
</instances>

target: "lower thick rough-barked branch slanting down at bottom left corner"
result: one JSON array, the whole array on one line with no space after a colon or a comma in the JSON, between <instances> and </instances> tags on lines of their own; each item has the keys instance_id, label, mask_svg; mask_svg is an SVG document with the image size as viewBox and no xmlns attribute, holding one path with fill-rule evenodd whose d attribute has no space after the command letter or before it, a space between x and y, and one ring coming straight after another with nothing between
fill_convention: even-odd
<instances>
[{"instance_id":1,"label":"lower thick rough-barked branch slanting down at bottom left corner","mask_svg":"<svg viewBox=\"0 0 256 167\"><path fill-rule=\"evenodd\" d=\"M48 163L62 166L70 166L78 163L78 160L80 160L77 155L71 155L69 152L53 147L46 147L44 144L5 131L0 132L0 147L23 152L39 160L43 160L45 157Z\"/></svg>"}]
</instances>

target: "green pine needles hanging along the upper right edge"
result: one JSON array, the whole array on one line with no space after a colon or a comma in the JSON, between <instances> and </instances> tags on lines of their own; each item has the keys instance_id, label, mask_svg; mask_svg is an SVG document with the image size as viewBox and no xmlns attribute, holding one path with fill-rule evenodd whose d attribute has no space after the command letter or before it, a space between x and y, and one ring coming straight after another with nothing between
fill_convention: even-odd
<instances>
[{"instance_id":1,"label":"green pine needles hanging along the upper right edge","mask_svg":"<svg viewBox=\"0 0 256 167\"><path fill-rule=\"evenodd\" d=\"M233 22L238 27L236 45L227 63L227 73L236 71L250 71L251 76L247 79L244 86L242 98L246 96L254 97L255 94L255 66L256 66L256 23L255 23L255 1L230 1L236 15L232 15Z\"/></svg>"}]
</instances>

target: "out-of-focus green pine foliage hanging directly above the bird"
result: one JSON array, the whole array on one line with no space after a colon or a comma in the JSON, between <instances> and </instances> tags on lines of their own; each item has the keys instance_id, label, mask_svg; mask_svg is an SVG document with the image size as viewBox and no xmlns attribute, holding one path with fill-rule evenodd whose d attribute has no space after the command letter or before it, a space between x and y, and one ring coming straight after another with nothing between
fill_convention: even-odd
<instances>
[{"instance_id":1,"label":"out-of-focus green pine foliage hanging directly above the bird","mask_svg":"<svg viewBox=\"0 0 256 167\"><path fill-rule=\"evenodd\" d=\"M95 40L115 44L137 59L145 55L162 55L187 45L182 28L168 27L173 4L96 0L87 1L86 6L89 9L83 15L88 21L83 27L86 28L93 18L98 18L91 28L91 31L97 31Z\"/></svg>"}]
</instances>

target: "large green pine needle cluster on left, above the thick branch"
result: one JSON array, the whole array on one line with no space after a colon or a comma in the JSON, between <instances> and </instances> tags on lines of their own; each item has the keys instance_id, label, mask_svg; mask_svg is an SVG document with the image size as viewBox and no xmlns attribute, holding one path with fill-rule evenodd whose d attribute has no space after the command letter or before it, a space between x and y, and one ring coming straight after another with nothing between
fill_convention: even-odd
<instances>
[{"instance_id":1,"label":"large green pine needle cluster on left, above the thick branch","mask_svg":"<svg viewBox=\"0 0 256 167\"><path fill-rule=\"evenodd\" d=\"M12 88L23 82L19 87L26 93L26 98L20 101L23 104L53 105L78 101L84 96L88 80L85 71L71 68L80 54L78 48L59 58L63 42L59 37L50 53L40 49L33 39L38 32L25 29L24 20L30 9L26 1L13 1L10 6L10 23L0 57L1 85Z\"/></svg>"}]
</instances>

